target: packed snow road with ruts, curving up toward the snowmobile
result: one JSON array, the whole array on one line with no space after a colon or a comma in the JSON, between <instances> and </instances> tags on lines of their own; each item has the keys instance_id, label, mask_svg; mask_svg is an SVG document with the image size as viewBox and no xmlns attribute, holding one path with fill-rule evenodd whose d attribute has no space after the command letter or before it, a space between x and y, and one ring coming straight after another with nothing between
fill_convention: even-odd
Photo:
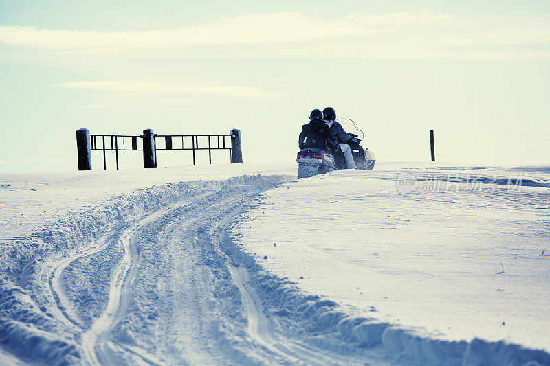
<instances>
[{"instance_id":1,"label":"packed snow road with ruts, curving up toward the snowmobile","mask_svg":"<svg viewBox=\"0 0 550 366\"><path fill-rule=\"evenodd\" d=\"M198 194L113 233L124 254L107 307L83 333L85 361L340 364L336 355L274 333L248 269L223 251L223 225L254 194Z\"/></svg>"}]
</instances>

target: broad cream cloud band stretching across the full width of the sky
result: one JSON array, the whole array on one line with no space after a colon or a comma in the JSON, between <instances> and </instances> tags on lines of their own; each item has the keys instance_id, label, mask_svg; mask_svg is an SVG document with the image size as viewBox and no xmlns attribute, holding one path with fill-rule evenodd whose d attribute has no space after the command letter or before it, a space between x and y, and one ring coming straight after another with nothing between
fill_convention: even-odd
<instances>
[{"instance_id":1,"label":"broad cream cloud band stretching across the full width of the sky","mask_svg":"<svg viewBox=\"0 0 550 366\"><path fill-rule=\"evenodd\" d=\"M275 12L177 30L93 32L0 26L0 44L98 58L117 53L137 58L532 60L549 58L549 24L549 16L397 12L356 13L326 21L298 12ZM150 47L158 49L144 52Z\"/></svg>"}]
</instances>

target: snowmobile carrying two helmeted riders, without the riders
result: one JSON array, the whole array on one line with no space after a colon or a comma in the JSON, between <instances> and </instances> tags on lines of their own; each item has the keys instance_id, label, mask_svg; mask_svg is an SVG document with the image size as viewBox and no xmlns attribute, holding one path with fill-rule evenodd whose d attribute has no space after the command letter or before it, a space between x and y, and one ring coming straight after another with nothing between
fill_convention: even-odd
<instances>
[{"instance_id":1,"label":"snowmobile carrying two helmeted riders, without the riders","mask_svg":"<svg viewBox=\"0 0 550 366\"><path fill-rule=\"evenodd\" d=\"M349 120L353 122L351 119ZM355 122L353 125L355 126ZM355 126L355 128L357 128L357 126ZM357 129L360 130L359 128ZM361 131L361 133L362 137L364 137L363 131ZM358 169L371 170L374 168L376 159L371 150L363 148L355 141L352 141L349 147L351 148L351 154L353 155L353 160L355 160L355 165L357 165ZM298 152L296 162L298 163L298 178L309 178L317 174L325 174L332 170L346 168L344 154L340 150L336 152L336 154L333 154L330 150L305 148Z\"/></svg>"}]
</instances>

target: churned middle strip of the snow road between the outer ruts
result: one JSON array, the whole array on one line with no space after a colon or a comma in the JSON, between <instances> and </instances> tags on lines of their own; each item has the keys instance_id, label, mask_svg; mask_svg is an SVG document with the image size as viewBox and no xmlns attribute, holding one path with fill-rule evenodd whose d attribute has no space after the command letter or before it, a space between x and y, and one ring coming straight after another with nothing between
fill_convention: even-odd
<instances>
[{"instance_id":1,"label":"churned middle strip of the snow road between the outer ruts","mask_svg":"<svg viewBox=\"0 0 550 366\"><path fill-rule=\"evenodd\" d=\"M246 192L217 192L152 222L136 240L133 303L114 337L166 363L261 363L245 336L239 290L208 227ZM136 325L140 324L139 330ZM257 347L256 347L257 348Z\"/></svg>"}]
</instances>

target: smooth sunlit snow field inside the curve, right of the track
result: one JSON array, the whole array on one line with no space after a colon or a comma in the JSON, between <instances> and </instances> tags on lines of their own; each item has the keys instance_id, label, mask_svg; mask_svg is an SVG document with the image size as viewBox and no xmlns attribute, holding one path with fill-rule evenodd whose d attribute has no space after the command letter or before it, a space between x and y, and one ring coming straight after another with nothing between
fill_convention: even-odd
<instances>
[{"instance_id":1,"label":"smooth sunlit snow field inside the curve, right of the track","mask_svg":"<svg viewBox=\"0 0 550 366\"><path fill-rule=\"evenodd\" d=\"M549 183L547 167L344 170L263 192L232 232L266 271L336 301L335 327L369 319L380 334L367 342L401 352L391 332L409 332L548 352Z\"/></svg>"}]
</instances>

